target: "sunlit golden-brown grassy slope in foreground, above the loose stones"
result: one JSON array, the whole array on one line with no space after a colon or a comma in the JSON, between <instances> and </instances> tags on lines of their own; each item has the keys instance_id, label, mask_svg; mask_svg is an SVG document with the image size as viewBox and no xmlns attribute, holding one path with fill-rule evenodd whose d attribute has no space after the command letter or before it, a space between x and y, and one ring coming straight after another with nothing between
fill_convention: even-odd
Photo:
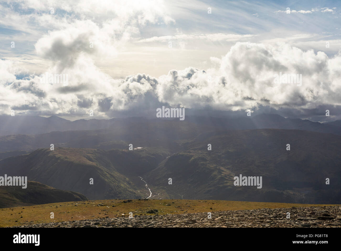
<instances>
[{"instance_id":1,"label":"sunlit golden-brown grassy slope in foreground, above the loose stones","mask_svg":"<svg viewBox=\"0 0 341 251\"><path fill-rule=\"evenodd\" d=\"M30 223L128 217L129 212L133 212L133 215L148 215L147 211L150 209L158 209L159 214L183 214L260 208L331 206L228 200L133 200L129 203L123 203L123 201L112 199L88 200L3 208L0 209L0 227L19 226ZM103 206L98 206L99 204L103 204ZM54 219L50 219L50 212L54 212Z\"/></svg>"}]
</instances>

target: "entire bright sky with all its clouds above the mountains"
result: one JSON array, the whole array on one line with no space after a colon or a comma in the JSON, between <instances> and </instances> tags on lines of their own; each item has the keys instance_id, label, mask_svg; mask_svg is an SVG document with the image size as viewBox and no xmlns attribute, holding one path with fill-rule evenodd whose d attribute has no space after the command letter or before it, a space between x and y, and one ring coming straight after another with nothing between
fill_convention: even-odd
<instances>
[{"instance_id":1,"label":"entire bright sky with all its clouds above the mountains","mask_svg":"<svg viewBox=\"0 0 341 251\"><path fill-rule=\"evenodd\" d=\"M339 120L340 3L0 1L0 114Z\"/></svg>"}]
</instances>

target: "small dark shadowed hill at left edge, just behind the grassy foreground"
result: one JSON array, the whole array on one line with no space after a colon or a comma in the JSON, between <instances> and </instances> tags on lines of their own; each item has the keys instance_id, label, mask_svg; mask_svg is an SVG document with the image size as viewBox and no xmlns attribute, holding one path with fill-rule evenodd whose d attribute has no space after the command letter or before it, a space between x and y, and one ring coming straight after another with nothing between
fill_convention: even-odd
<instances>
[{"instance_id":1,"label":"small dark shadowed hill at left edge, just behind the grassy foreground","mask_svg":"<svg viewBox=\"0 0 341 251\"><path fill-rule=\"evenodd\" d=\"M87 197L34 181L28 181L26 189L16 186L0 186L0 208L79 200L87 200Z\"/></svg>"}]
</instances>

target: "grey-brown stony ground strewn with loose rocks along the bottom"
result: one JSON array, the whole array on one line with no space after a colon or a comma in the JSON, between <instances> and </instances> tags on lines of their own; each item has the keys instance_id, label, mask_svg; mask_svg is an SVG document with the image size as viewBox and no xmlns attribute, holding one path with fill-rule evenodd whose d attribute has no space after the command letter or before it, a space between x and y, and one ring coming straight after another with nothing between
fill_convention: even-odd
<instances>
[{"instance_id":1,"label":"grey-brown stony ground strewn with loose rocks along the bottom","mask_svg":"<svg viewBox=\"0 0 341 251\"><path fill-rule=\"evenodd\" d=\"M290 219L287 219L290 212ZM133 215L119 218L30 224L19 227L341 227L341 207L292 207L208 213Z\"/></svg>"}]
</instances>

